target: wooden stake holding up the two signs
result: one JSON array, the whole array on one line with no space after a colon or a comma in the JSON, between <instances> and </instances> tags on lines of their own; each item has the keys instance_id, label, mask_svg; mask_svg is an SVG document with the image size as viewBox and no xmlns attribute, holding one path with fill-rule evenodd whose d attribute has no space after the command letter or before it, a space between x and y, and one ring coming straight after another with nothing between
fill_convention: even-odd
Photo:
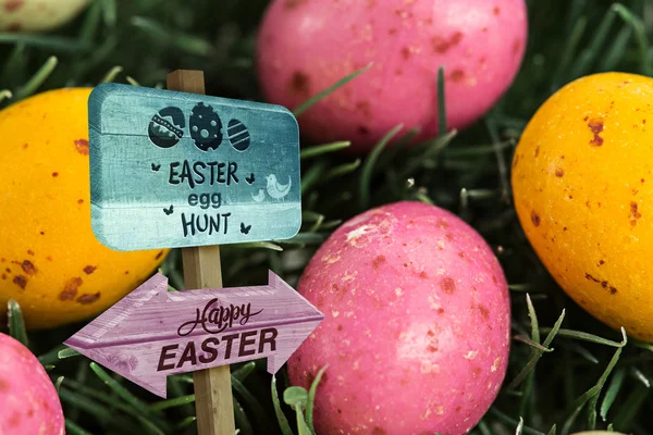
<instances>
[{"instance_id":1,"label":"wooden stake holding up the two signs","mask_svg":"<svg viewBox=\"0 0 653 435\"><path fill-rule=\"evenodd\" d=\"M177 70L167 76L168 89L205 94L204 72ZM186 288L221 288L220 247L182 249ZM232 435L236 432L229 365L193 372L197 432L199 435Z\"/></svg>"}]
</instances>

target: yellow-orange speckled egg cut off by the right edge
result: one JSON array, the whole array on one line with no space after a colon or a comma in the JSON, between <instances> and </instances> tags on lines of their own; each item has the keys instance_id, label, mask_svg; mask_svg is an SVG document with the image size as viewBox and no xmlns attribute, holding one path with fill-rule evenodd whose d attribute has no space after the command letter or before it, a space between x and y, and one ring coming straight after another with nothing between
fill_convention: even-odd
<instances>
[{"instance_id":1,"label":"yellow-orange speckled egg cut off by the right edge","mask_svg":"<svg viewBox=\"0 0 653 435\"><path fill-rule=\"evenodd\" d=\"M565 291L653 343L653 79L572 82L535 113L513 160L519 221Z\"/></svg>"}]
</instances>

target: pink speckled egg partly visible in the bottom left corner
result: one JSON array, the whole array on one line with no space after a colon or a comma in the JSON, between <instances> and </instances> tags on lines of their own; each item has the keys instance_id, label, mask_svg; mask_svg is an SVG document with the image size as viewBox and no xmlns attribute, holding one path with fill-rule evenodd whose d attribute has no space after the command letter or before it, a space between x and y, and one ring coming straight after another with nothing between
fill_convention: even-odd
<instances>
[{"instance_id":1,"label":"pink speckled egg partly visible in the bottom left corner","mask_svg":"<svg viewBox=\"0 0 653 435\"><path fill-rule=\"evenodd\" d=\"M0 434L63 435L54 385L36 357L0 333Z\"/></svg>"}]
</instances>

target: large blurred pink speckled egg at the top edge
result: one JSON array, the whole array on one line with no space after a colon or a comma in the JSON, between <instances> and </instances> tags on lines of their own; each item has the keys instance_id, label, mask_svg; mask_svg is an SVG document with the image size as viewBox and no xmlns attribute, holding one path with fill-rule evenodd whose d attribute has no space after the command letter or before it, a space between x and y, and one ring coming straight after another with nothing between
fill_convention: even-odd
<instances>
[{"instance_id":1,"label":"large blurred pink speckled egg at the top edge","mask_svg":"<svg viewBox=\"0 0 653 435\"><path fill-rule=\"evenodd\" d=\"M373 62L298 120L306 138L361 153L399 123L436 135L440 66L448 125L482 116L517 74L527 27L523 0L274 0L258 75L271 102L295 108Z\"/></svg>"}]
</instances>

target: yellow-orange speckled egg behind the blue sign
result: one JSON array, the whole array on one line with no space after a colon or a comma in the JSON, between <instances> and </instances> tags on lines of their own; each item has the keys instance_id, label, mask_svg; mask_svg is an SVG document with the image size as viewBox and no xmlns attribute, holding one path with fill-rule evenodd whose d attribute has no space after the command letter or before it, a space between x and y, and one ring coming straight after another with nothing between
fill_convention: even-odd
<instances>
[{"instance_id":1,"label":"yellow-orange speckled egg behind the blue sign","mask_svg":"<svg viewBox=\"0 0 653 435\"><path fill-rule=\"evenodd\" d=\"M168 252L114 251L91 232L90 90L52 90L0 111L0 307L15 299L28 328L107 309Z\"/></svg>"}]
</instances>

